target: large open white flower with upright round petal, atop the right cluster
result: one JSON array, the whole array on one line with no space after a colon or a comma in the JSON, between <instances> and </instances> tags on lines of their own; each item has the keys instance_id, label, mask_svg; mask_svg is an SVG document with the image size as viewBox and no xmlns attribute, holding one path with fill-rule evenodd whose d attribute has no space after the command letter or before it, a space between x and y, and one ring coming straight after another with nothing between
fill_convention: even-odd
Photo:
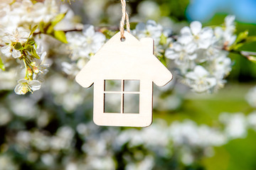
<instances>
[{"instance_id":1,"label":"large open white flower with upright round petal, atop the right cluster","mask_svg":"<svg viewBox=\"0 0 256 170\"><path fill-rule=\"evenodd\" d=\"M202 28L202 24L198 21L193 21L190 25L181 29L181 37L178 42L187 44L195 43L198 48L206 49L210 46L213 39L213 30L211 28Z\"/></svg>"}]
</instances>

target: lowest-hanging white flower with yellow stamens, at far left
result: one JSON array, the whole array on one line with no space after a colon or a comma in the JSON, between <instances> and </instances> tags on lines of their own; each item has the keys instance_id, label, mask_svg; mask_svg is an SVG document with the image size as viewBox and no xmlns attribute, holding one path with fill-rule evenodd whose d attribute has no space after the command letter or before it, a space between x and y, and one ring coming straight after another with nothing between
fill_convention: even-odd
<instances>
[{"instance_id":1,"label":"lowest-hanging white flower with yellow stamens, at far left","mask_svg":"<svg viewBox=\"0 0 256 170\"><path fill-rule=\"evenodd\" d=\"M26 94L28 91L36 91L41 88L41 82L38 80L26 80L20 79L18 80L18 84L15 87L14 91L16 94Z\"/></svg>"}]
</instances>

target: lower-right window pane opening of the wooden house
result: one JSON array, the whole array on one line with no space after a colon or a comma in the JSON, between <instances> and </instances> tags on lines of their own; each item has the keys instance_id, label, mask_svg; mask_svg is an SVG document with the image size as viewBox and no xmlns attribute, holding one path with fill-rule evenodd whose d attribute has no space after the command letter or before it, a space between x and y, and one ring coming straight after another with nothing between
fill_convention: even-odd
<instances>
[{"instance_id":1,"label":"lower-right window pane opening of the wooden house","mask_svg":"<svg viewBox=\"0 0 256 170\"><path fill-rule=\"evenodd\" d=\"M124 94L124 113L139 113L139 94Z\"/></svg>"}]
</instances>

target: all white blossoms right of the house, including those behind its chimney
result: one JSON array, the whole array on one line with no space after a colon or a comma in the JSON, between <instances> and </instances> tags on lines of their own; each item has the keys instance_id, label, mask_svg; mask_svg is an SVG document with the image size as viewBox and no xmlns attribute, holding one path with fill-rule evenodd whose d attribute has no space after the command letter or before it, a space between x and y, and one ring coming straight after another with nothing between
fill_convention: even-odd
<instances>
[{"instance_id":1,"label":"all white blossoms right of the house, including those behind its chimney","mask_svg":"<svg viewBox=\"0 0 256 170\"><path fill-rule=\"evenodd\" d=\"M235 16L227 16L224 25L215 28L202 28L200 22L193 21L175 36L170 28L148 21L139 23L132 33L137 38L154 38L155 55L173 61L169 69L193 91L213 92L223 87L231 71L228 47L236 39L234 21Z\"/></svg>"}]
</instances>

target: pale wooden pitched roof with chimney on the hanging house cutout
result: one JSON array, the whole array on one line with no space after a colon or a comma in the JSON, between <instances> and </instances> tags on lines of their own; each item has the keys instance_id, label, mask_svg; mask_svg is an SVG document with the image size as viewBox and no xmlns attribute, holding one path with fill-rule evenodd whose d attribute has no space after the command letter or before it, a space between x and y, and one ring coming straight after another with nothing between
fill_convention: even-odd
<instances>
[{"instance_id":1,"label":"pale wooden pitched roof with chimney on the hanging house cutout","mask_svg":"<svg viewBox=\"0 0 256 170\"><path fill-rule=\"evenodd\" d=\"M117 33L91 57L75 77L78 84L90 87L98 79L149 79L164 86L171 81L171 72L153 55L152 38L137 40L127 32L124 37L122 42Z\"/></svg>"}]
</instances>

